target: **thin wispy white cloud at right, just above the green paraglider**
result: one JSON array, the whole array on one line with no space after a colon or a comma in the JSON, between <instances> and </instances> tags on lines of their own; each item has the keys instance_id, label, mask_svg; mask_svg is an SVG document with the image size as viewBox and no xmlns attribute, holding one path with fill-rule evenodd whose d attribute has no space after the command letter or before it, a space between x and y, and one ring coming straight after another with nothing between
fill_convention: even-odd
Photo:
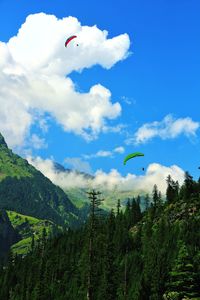
<instances>
[{"instance_id":1,"label":"thin wispy white cloud at right, just above the green paraglider","mask_svg":"<svg viewBox=\"0 0 200 300\"><path fill-rule=\"evenodd\" d=\"M161 139L174 139L183 134L186 137L196 136L200 123L193 121L191 118L175 119L172 115L167 115L162 121L146 123L142 125L133 138L127 140L128 144L146 143L154 137Z\"/></svg>"}]
</instances>

